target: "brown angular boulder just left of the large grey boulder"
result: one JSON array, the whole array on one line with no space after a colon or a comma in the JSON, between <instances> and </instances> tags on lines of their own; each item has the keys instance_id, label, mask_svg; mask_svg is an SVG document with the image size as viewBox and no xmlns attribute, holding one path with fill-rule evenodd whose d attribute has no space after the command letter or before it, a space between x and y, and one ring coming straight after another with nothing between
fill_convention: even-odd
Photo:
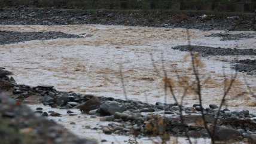
<instances>
[{"instance_id":1,"label":"brown angular boulder just left of the large grey boulder","mask_svg":"<svg viewBox=\"0 0 256 144\"><path fill-rule=\"evenodd\" d=\"M89 111L92 111L93 109L99 108L101 104L102 102L100 102L97 97L91 96L89 100L82 103L81 105L75 106L74 108L80 109L80 111L83 113L87 113Z\"/></svg>"}]
</instances>

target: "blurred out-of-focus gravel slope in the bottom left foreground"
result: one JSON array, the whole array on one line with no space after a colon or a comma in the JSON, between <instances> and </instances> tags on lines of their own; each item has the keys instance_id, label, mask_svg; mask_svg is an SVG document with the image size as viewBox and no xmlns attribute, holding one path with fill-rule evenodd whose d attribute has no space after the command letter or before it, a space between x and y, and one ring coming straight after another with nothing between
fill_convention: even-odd
<instances>
[{"instance_id":1,"label":"blurred out-of-focus gravel slope in the bottom left foreground","mask_svg":"<svg viewBox=\"0 0 256 144\"><path fill-rule=\"evenodd\" d=\"M62 125L47 120L28 106L0 93L0 139L2 144L65 143L95 144L80 139Z\"/></svg>"}]
</instances>

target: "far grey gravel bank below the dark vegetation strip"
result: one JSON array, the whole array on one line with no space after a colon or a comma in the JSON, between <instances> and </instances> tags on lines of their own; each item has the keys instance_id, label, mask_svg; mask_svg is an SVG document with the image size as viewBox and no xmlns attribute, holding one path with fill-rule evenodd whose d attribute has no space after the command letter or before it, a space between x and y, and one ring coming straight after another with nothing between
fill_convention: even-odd
<instances>
[{"instance_id":1,"label":"far grey gravel bank below the dark vegetation strip","mask_svg":"<svg viewBox=\"0 0 256 144\"><path fill-rule=\"evenodd\" d=\"M256 30L255 14L205 14L163 11L59 10L10 8L0 10L0 24L115 24L182 27L202 30Z\"/></svg>"}]
</instances>

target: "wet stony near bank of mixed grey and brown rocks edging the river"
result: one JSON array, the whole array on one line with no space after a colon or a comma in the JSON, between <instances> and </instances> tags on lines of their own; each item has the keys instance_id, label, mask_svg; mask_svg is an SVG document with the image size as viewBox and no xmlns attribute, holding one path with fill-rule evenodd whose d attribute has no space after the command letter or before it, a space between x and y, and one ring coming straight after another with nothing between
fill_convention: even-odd
<instances>
[{"instance_id":1,"label":"wet stony near bank of mixed grey and brown rocks edging the river","mask_svg":"<svg viewBox=\"0 0 256 144\"><path fill-rule=\"evenodd\" d=\"M214 123L218 114L218 106L214 104L209 105L208 108L200 108L198 104L191 107L182 106L182 114L184 115L184 122L182 122L180 118L181 111L176 103L156 102L156 105L151 105L133 100L96 97L72 91L57 91L53 86L47 85L36 87L17 85L8 78L7 75L2 76L1 82L5 82L5 85L1 85L1 91L4 91L13 99L21 100L23 103L39 102L51 106L51 108L67 109L67 113L71 117L75 116L72 109L80 109L81 112L89 114L91 117L100 117L100 121L113 122L102 127L105 134L133 134L137 137L161 136L162 139L167 140L170 135L185 136L185 130L188 130L191 137L209 137L202 125L201 110L203 110L206 122L209 125ZM7 85L7 83L10 85ZM16 102L13 99L10 100L13 103ZM1 102L4 101L1 100ZM16 111L20 112L17 109ZM11 118L15 115L13 113L1 114ZM42 108L36 109L36 115L44 115L45 117L61 116L57 112L47 112ZM256 115L246 110L230 111L221 109L220 118L217 122L218 133L216 133L215 139L221 141L243 140L245 142L255 140L255 117ZM34 118L32 121L37 121L37 119Z\"/></svg>"}]
</instances>

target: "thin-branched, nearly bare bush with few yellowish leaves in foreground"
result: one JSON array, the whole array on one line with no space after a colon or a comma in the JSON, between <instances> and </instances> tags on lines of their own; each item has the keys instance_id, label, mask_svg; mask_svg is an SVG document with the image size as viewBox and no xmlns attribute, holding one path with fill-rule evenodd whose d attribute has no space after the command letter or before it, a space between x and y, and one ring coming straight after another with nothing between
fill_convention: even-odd
<instances>
[{"instance_id":1,"label":"thin-branched, nearly bare bush with few yellowish leaves in foreground","mask_svg":"<svg viewBox=\"0 0 256 144\"><path fill-rule=\"evenodd\" d=\"M205 128L207 133L209 134L209 137L211 138L211 141L214 144L216 142L215 132L216 132L216 128L217 128L217 121L218 121L218 118L220 117L221 109L225 105L226 97L227 97L228 93L230 92L230 90L236 80L237 72L235 72L233 75L231 75L230 78L227 78L227 75L225 75L225 72L223 73L223 77L224 77L223 91L224 91L224 93L223 93L223 96L221 97L220 106L218 107L218 111L217 111L217 115L214 120L214 124L210 128L208 125L208 122L206 121L206 117L205 117L205 113L204 113L204 109L203 109L203 100L202 100L202 98L203 98L202 86L203 86L203 84L206 84L206 82L209 81L210 78L209 77L202 78L203 76L200 75L199 69L203 67L203 63L200 60L199 54L193 53L192 48L190 47L190 35L189 34L190 33L187 30L188 47L190 49L190 57L191 57L191 68L190 68L191 74L192 74L191 78L188 76L181 76L181 75L179 75L178 72L175 73L176 79L173 77L167 76L166 68L164 68L164 63L163 63L163 59L164 59L163 53L161 54L161 56L162 56L161 68L163 71L165 100L167 97L167 91L169 91L173 100L175 100L175 103L178 104L181 123L185 127L184 115L182 115L182 106L183 106L184 97L191 93L195 94L197 99L199 100L200 113L202 115L201 117L202 117L203 121L201 124ZM152 54L151 54L151 61L152 61L152 65L155 69L155 72L157 73L157 76L161 77L160 72L157 71L157 66L156 66L156 63L154 62ZM179 91L182 91L180 101L178 100L178 96L177 96L178 93L176 93L176 91L175 91L175 88L177 88L177 87L179 88ZM155 118L155 120L159 120L159 118ZM160 121L155 122L154 127L160 127L160 125L158 124L159 122ZM154 127L152 125L153 124L151 124L151 127L149 127L149 128L151 128L151 130L154 130ZM188 134L188 129L186 127L185 127L184 132L185 132L185 136L187 137L188 142L192 143L190 135ZM158 133L158 134L164 138L164 139L162 139L161 143L166 143L166 138L163 136L163 133ZM153 136L154 136L154 134L153 134Z\"/></svg>"}]
</instances>

